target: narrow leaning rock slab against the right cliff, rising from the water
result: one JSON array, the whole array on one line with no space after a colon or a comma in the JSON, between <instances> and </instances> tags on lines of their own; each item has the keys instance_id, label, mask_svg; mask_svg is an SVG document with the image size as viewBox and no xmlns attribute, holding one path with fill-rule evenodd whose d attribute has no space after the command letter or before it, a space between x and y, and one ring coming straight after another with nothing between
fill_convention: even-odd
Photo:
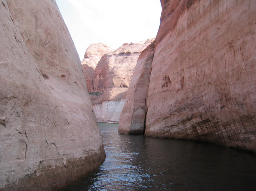
<instances>
[{"instance_id":1,"label":"narrow leaning rock slab against the right cliff, rising from the water","mask_svg":"<svg viewBox=\"0 0 256 191\"><path fill-rule=\"evenodd\" d=\"M120 115L119 133L144 134L146 97L149 87L150 68L154 57L152 42L140 54L132 81L127 91L126 102Z\"/></svg>"}]
</instances>

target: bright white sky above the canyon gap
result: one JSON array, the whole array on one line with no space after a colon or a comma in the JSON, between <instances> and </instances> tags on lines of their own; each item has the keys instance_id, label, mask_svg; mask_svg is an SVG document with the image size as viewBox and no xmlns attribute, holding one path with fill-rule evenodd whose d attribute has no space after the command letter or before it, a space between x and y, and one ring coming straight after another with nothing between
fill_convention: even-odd
<instances>
[{"instance_id":1,"label":"bright white sky above the canyon gap","mask_svg":"<svg viewBox=\"0 0 256 191\"><path fill-rule=\"evenodd\" d=\"M56 0L80 60L92 43L113 49L157 35L160 0Z\"/></svg>"}]
</instances>

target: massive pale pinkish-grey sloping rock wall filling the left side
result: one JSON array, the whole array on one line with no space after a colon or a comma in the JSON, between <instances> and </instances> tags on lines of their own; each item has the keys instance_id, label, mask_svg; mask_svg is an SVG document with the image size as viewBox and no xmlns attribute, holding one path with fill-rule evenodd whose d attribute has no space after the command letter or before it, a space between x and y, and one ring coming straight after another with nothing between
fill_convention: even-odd
<instances>
[{"instance_id":1,"label":"massive pale pinkish-grey sloping rock wall filling the left side","mask_svg":"<svg viewBox=\"0 0 256 191\"><path fill-rule=\"evenodd\" d=\"M61 188L106 156L78 53L54 0L0 11L0 190Z\"/></svg>"}]
</instances>

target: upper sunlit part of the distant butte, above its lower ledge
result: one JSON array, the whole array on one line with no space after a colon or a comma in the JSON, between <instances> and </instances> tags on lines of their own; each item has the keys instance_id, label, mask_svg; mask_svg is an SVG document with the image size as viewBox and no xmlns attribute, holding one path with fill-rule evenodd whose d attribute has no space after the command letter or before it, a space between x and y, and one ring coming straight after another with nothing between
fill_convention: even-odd
<instances>
[{"instance_id":1,"label":"upper sunlit part of the distant butte, above its lower ledge","mask_svg":"<svg viewBox=\"0 0 256 191\"><path fill-rule=\"evenodd\" d=\"M129 87L140 53L155 39L122 45L105 54L97 64L93 76L95 91L111 87Z\"/></svg>"}]
</instances>

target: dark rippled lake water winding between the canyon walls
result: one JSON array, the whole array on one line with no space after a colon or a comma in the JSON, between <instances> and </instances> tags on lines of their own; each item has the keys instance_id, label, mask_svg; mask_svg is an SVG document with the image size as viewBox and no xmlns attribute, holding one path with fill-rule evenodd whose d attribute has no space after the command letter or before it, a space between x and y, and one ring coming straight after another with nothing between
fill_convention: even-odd
<instances>
[{"instance_id":1,"label":"dark rippled lake water winding between the canyon walls","mask_svg":"<svg viewBox=\"0 0 256 191\"><path fill-rule=\"evenodd\" d=\"M106 160L63 191L256 190L256 155L192 141L118 133L99 123Z\"/></svg>"}]
</instances>

